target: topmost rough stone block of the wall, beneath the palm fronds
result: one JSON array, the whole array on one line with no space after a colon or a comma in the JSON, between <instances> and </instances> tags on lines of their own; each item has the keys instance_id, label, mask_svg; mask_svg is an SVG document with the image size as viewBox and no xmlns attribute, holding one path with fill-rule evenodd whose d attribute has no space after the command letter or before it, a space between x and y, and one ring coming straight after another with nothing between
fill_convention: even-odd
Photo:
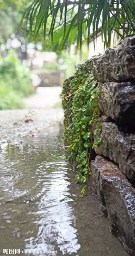
<instances>
[{"instance_id":1,"label":"topmost rough stone block of the wall, beneath the palm fronds","mask_svg":"<svg viewBox=\"0 0 135 256\"><path fill-rule=\"evenodd\" d=\"M95 80L125 81L135 79L135 36L125 38L116 47L108 48L105 54L93 61Z\"/></svg>"}]
</instances>

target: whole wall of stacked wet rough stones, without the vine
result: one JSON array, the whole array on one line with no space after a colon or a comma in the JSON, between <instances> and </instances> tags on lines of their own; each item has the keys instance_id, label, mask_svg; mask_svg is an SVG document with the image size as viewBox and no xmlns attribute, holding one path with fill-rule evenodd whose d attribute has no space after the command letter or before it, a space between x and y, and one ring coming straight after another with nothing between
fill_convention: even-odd
<instances>
[{"instance_id":1,"label":"whole wall of stacked wet rough stones, without the vine","mask_svg":"<svg viewBox=\"0 0 135 256\"><path fill-rule=\"evenodd\" d=\"M90 164L89 188L110 231L135 256L135 36L95 57L93 74L102 83L102 144Z\"/></svg>"}]
</instances>

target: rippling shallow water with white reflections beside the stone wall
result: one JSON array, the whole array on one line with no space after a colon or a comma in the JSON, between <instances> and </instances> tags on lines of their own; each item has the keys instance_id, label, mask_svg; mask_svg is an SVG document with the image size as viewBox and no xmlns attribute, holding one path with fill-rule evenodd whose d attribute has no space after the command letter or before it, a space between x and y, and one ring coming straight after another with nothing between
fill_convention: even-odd
<instances>
[{"instance_id":1,"label":"rippling shallow water with white reflections beside the stone wall","mask_svg":"<svg viewBox=\"0 0 135 256\"><path fill-rule=\"evenodd\" d=\"M13 248L58 256L128 255L109 233L96 197L88 192L79 199L81 185L72 182L61 134L5 145L0 162L0 255Z\"/></svg>"}]
</instances>

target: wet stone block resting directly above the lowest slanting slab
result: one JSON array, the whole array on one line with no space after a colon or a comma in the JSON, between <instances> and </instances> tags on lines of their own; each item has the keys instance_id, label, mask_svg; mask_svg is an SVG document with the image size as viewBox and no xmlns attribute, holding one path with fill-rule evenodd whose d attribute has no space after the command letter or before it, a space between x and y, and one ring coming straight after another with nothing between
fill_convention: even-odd
<instances>
[{"instance_id":1,"label":"wet stone block resting directly above the lowest slanting slab","mask_svg":"<svg viewBox=\"0 0 135 256\"><path fill-rule=\"evenodd\" d=\"M109 157L119 165L123 173L132 181L135 180L135 135L125 135L112 122L103 122L101 131L102 144L95 151Z\"/></svg>"}]
</instances>

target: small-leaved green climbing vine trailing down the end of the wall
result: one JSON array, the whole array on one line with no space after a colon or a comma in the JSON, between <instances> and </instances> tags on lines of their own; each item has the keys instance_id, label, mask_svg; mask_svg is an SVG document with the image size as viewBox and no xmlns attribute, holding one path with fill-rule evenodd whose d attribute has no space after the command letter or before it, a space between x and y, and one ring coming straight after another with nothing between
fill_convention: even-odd
<instances>
[{"instance_id":1,"label":"small-leaved green climbing vine trailing down the end of the wall","mask_svg":"<svg viewBox=\"0 0 135 256\"><path fill-rule=\"evenodd\" d=\"M69 160L76 163L76 182L85 183L91 173L89 163L95 147L101 144L98 109L100 83L94 80L92 61L80 64L74 77L64 82L62 106L64 109L65 138L69 145ZM94 141L96 137L96 141ZM84 194L85 187L82 191Z\"/></svg>"}]
</instances>

